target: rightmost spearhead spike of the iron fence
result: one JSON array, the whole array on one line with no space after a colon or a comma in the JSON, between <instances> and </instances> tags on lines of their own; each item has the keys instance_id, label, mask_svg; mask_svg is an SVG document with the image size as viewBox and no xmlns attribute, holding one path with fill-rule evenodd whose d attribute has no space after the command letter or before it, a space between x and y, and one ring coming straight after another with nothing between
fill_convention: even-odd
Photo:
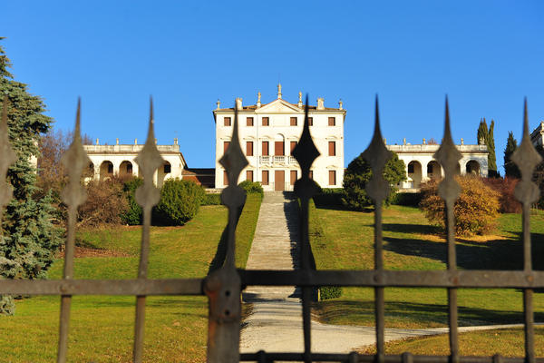
<instances>
[{"instance_id":1,"label":"rightmost spearhead spike of the iron fence","mask_svg":"<svg viewBox=\"0 0 544 363\"><path fill-rule=\"evenodd\" d=\"M527 98L523 107L523 139L520 147L516 150L511 160L518 165L521 172L521 182L516 185L514 196L523 204L530 204L539 200L539 187L531 181L532 172L535 167L542 161L539 152L536 151L529 135L529 116L527 112Z\"/></svg>"}]
</instances>

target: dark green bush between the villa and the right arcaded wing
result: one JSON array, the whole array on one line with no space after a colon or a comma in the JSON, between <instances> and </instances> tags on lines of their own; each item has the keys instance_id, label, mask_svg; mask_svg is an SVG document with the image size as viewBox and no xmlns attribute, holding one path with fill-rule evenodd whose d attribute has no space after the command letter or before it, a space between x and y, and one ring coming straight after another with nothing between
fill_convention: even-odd
<instances>
[{"instance_id":1,"label":"dark green bush between the villa and the right arcaded wing","mask_svg":"<svg viewBox=\"0 0 544 363\"><path fill-rule=\"evenodd\" d=\"M372 178L370 164L365 162L363 154L357 156L349 163L344 174L344 197L342 202L350 209L362 211L364 207L372 204L366 195L364 187L366 182ZM393 157L385 163L384 179L392 186L406 180L404 162L393 152ZM392 187L389 196L385 200L389 204L393 198L396 188Z\"/></svg>"}]
</instances>

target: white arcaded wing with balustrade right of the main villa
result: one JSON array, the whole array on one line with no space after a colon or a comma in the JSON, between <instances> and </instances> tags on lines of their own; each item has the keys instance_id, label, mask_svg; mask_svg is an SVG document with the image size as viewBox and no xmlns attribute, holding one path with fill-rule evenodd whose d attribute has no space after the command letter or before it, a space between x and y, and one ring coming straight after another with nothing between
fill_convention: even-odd
<instances>
[{"instance_id":1,"label":"white arcaded wing with balustrade right of the main villa","mask_svg":"<svg viewBox=\"0 0 544 363\"><path fill-rule=\"evenodd\" d=\"M489 152L486 145L465 145L461 139L461 144L455 146L461 152L461 160L457 166L457 171L461 175L473 173L481 177L488 176ZM423 139L421 144L410 144L404 141L402 145L386 145L386 147L396 152L399 159L404 162L407 180L399 185L401 190L417 190L422 182L444 176L442 166L433 157L440 145L427 144Z\"/></svg>"}]
</instances>

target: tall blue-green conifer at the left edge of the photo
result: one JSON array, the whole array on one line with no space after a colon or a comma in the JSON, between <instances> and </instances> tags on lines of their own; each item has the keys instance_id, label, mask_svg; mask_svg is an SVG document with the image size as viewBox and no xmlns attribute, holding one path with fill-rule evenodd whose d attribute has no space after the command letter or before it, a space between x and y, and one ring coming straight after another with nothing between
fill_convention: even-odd
<instances>
[{"instance_id":1,"label":"tall blue-green conifer at the left edge of the photo","mask_svg":"<svg viewBox=\"0 0 544 363\"><path fill-rule=\"evenodd\" d=\"M50 222L51 195L35 196L36 169L31 160L38 156L40 134L47 132L52 119L44 115L42 99L30 94L26 84L14 80L8 72L10 67L0 46L0 94L8 98L8 139L18 158L7 171L14 194L2 221L0 279L44 279L61 238ZM0 104L0 111L2 107ZM0 296L0 314L14 312L13 299Z\"/></svg>"}]
</instances>

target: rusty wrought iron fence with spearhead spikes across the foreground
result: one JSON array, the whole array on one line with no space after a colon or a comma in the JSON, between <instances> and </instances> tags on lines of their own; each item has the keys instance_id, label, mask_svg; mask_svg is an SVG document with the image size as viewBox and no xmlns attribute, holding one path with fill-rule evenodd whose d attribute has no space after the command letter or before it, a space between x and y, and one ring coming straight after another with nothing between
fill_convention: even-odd
<instances>
[{"instance_id":1,"label":"rusty wrought iron fence with spearhead spikes across the foreground","mask_svg":"<svg viewBox=\"0 0 544 363\"><path fill-rule=\"evenodd\" d=\"M0 207L11 199L11 186L5 183L5 174L9 165L15 162L15 153L11 150L6 132L6 101L4 101L2 123L0 123ZM235 108L236 109L236 108ZM209 297L209 337L208 361L337 361L337 362L377 362L377 363L499 363L499 362L544 362L535 358L533 290L544 288L544 271L532 270L531 240L529 229L530 204L539 197L538 187L531 182L532 171L540 162L529 138L527 103L524 108L523 140L512 160L520 168L522 179L515 196L521 201L523 221L523 270L457 270L453 203L457 199L460 187L453 176L457 170L460 152L452 142L450 118L446 100L445 125L442 144L435 153L435 158L442 164L445 176L439 185L439 194L446 207L447 231L447 270L411 271L384 270L384 252L382 239L382 204L389 191L384 180L384 164L391 157L384 145L380 131L378 103L375 105L374 137L364 151L364 159L370 163L373 179L367 183L366 191L374 201L374 270L315 270L311 263L311 249L308 240L308 202L316 193L316 184L309 177L312 163L319 156L312 141L306 114L302 135L293 155L300 165L302 175L295 184L296 196L300 199L300 270L237 270L235 267L235 230L237 213L246 200L245 192L236 184L240 172L248 165L238 140L238 113L232 139L228 150L220 160L228 172L228 187L222 191L221 200L228 207L228 243L227 255L222 268L215 270L202 279L151 280L147 278L148 255L150 246L151 208L159 201L159 191L152 183L153 172L163 161L155 145L153 132L153 109L151 102L150 122L147 141L139 153L138 163L144 184L136 191L136 200L143 209L143 228L141 236L141 258L138 278L135 280L73 280L73 249L75 235L76 210L85 200L85 192L80 185L83 169L89 159L83 151L80 135L80 105L78 103L73 142L63 156L63 163L69 171L69 182L63 191L63 201L68 206L68 229L65 243L63 280L0 280L0 294L13 295L59 295L61 297L60 332L57 361L66 361L67 338L69 333L70 307L73 295L133 295L136 297L136 318L134 329L134 362L141 362L144 337L145 299L150 295L204 295ZM1 211L0 211L1 217ZM302 317L304 351L300 353L258 351L239 354L240 335L240 292L242 287L261 286L298 286L302 288ZM374 288L376 354L362 355L313 353L311 350L310 305L312 291L318 286L358 286ZM448 290L450 356L415 356L385 355L384 353L384 288L385 287L426 287ZM457 289L522 289L525 332L525 357L461 357L458 339L458 304Z\"/></svg>"}]
</instances>

